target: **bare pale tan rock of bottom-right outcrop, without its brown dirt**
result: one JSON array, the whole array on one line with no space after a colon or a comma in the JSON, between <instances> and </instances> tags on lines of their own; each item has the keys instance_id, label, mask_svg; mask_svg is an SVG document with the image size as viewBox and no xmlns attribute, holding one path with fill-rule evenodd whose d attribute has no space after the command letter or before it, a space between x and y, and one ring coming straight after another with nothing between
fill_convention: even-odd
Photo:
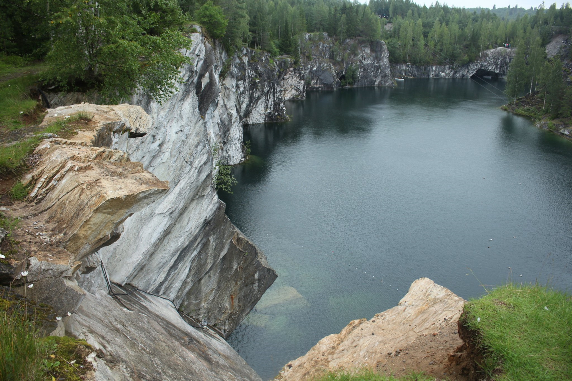
<instances>
[{"instance_id":1,"label":"bare pale tan rock of bottom-right outcrop, without its brown dirt","mask_svg":"<svg viewBox=\"0 0 572 381\"><path fill-rule=\"evenodd\" d=\"M396 307L370 320L352 320L339 334L326 336L307 354L289 362L276 379L301 381L340 368L383 366L388 353L438 332L444 322L457 320L464 302L431 279L417 279Z\"/></svg>"}]
</instances>

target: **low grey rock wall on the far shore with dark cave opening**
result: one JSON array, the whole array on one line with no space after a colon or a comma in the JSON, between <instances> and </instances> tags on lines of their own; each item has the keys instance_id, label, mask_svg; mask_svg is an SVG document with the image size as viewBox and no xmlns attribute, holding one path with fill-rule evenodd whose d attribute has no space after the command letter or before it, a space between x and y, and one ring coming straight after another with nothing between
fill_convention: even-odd
<instances>
[{"instance_id":1,"label":"low grey rock wall on the far shore with dark cave opening","mask_svg":"<svg viewBox=\"0 0 572 381\"><path fill-rule=\"evenodd\" d=\"M482 56L474 62L463 66L453 65L424 65L411 63L392 63L391 72L395 77L415 78L471 78L472 75L492 75L505 78L509 72L509 64L515 55L515 49L498 47L483 51Z\"/></svg>"}]
</instances>

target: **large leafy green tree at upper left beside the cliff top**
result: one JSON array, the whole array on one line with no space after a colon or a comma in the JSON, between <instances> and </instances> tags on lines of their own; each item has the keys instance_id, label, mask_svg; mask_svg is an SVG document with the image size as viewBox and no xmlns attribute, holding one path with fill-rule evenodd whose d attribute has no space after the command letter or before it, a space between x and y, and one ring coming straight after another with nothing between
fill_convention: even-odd
<instances>
[{"instance_id":1,"label":"large leafy green tree at upper left beside the cliff top","mask_svg":"<svg viewBox=\"0 0 572 381\"><path fill-rule=\"evenodd\" d=\"M63 89L95 88L112 102L137 87L161 101L189 62L178 51L189 43L178 30L182 21L172 0L62 0L50 21L44 78Z\"/></svg>"}]
</instances>

